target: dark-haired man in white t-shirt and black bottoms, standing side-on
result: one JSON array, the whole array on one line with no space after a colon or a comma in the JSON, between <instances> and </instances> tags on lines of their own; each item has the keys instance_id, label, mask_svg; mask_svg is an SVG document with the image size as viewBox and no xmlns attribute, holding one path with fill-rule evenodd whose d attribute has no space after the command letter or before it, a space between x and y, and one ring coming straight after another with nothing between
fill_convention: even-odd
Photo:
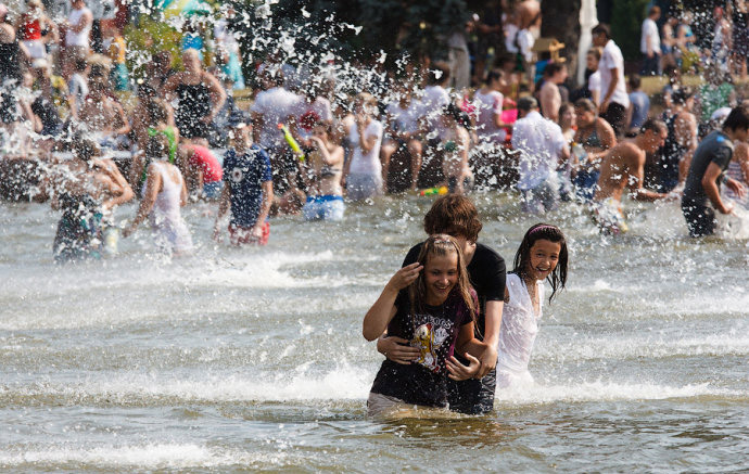
<instances>
[{"instance_id":1,"label":"dark-haired man in white t-shirt and black bottoms, standing side-on","mask_svg":"<svg viewBox=\"0 0 749 474\"><path fill-rule=\"evenodd\" d=\"M604 48L604 54L598 63L600 73L600 116L611 124L617 137L625 130L624 119L630 107L630 95L624 82L624 56L622 50L611 39L611 33L606 25L593 28L593 44Z\"/></svg>"}]
</instances>

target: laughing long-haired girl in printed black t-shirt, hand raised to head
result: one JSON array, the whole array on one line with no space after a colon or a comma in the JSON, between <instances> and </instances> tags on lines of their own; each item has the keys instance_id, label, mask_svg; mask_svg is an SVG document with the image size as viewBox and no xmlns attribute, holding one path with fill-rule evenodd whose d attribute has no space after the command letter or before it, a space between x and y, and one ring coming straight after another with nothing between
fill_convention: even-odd
<instances>
[{"instance_id":1,"label":"laughing long-haired girl in printed black t-shirt, hand raised to head","mask_svg":"<svg viewBox=\"0 0 749 474\"><path fill-rule=\"evenodd\" d=\"M430 236L416 262L395 272L364 317L367 341L388 334L410 341L420 349L411 363L385 360L374 377L369 400L370 415L408 406L447 407L446 377L465 380L480 368L477 357L486 348L473 336L475 293L455 239ZM453 354L466 354L461 369Z\"/></svg>"}]
</instances>

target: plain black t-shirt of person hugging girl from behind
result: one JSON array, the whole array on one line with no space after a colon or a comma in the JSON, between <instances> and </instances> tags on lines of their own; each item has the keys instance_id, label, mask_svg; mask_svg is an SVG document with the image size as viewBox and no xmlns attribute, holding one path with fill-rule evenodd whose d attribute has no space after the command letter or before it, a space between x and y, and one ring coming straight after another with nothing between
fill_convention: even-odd
<instances>
[{"instance_id":1,"label":"plain black t-shirt of person hugging girl from behind","mask_svg":"<svg viewBox=\"0 0 749 474\"><path fill-rule=\"evenodd\" d=\"M423 242L408 251L403 267L414 264L419 258ZM471 262L468 264L468 278L479 297L479 318L477 319L477 337L483 341L486 302L505 300L505 259L491 247L477 242Z\"/></svg>"}]
</instances>

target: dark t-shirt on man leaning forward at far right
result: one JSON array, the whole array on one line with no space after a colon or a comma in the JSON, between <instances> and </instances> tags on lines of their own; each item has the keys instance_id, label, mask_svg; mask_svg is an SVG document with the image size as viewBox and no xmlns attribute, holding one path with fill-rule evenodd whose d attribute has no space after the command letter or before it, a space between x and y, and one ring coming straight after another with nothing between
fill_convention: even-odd
<instances>
[{"instance_id":1,"label":"dark t-shirt on man leaning forward at far right","mask_svg":"<svg viewBox=\"0 0 749 474\"><path fill-rule=\"evenodd\" d=\"M710 163L716 164L725 171L728 168L733 154L734 144L728 136L720 130L708 133L699 146L697 146L695 156L691 158L682 202L707 206L708 195L704 193L704 188L702 188L702 177L704 177ZM715 184L720 189L720 178L715 180Z\"/></svg>"}]
</instances>

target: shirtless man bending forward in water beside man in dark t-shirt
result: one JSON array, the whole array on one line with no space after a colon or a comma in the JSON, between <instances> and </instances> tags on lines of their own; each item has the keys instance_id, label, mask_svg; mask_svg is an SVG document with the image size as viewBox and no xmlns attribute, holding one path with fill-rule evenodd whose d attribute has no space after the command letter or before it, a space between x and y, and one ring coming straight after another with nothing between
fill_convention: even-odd
<instances>
[{"instance_id":1,"label":"shirtless man bending forward in water beside man in dark t-shirt","mask_svg":"<svg viewBox=\"0 0 749 474\"><path fill-rule=\"evenodd\" d=\"M643 188L645 155L663 146L668 136L665 124L648 119L637 137L623 141L604 156L598 189L593 197L593 217L601 232L618 234L627 231L621 204L624 188L635 201L656 201L669 197Z\"/></svg>"}]
</instances>

